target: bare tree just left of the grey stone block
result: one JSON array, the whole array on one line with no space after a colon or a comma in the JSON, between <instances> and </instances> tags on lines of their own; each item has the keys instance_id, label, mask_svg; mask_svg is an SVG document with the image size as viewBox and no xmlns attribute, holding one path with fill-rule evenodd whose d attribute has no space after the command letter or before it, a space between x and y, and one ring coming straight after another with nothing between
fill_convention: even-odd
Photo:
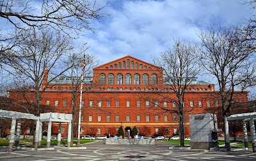
<instances>
[{"instance_id":1,"label":"bare tree just left of the grey stone block","mask_svg":"<svg viewBox=\"0 0 256 161\"><path fill-rule=\"evenodd\" d=\"M153 64L163 68L164 88L169 88L175 95L175 97L169 97L163 92L159 92L158 95L161 99L167 102L174 102L176 107L170 109L158 106L158 108L168 113L179 115L180 146L184 146L185 95L188 92L191 81L200 72L200 67L195 60L195 54L195 45L176 41L172 49L162 52L158 58L152 58Z\"/></svg>"}]
</instances>

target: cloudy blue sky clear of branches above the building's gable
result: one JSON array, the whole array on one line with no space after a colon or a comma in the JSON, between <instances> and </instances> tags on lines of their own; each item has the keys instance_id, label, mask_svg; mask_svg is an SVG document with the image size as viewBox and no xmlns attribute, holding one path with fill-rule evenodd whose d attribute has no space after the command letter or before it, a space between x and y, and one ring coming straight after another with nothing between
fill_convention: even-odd
<instances>
[{"instance_id":1,"label":"cloudy blue sky clear of branches above the building's gable","mask_svg":"<svg viewBox=\"0 0 256 161\"><path fill-rule=\"evenodd\" d=\"M200 28L220 21L236 25L252 15L238 0L110 0L93 21L96 33L86 32L77 44L88 43L88 52L102 64L125 55L150 62L150 55L172 48L173 39L198 41ZM106 1L99 1L100 4Z\"/></svg>"}]
</instances>

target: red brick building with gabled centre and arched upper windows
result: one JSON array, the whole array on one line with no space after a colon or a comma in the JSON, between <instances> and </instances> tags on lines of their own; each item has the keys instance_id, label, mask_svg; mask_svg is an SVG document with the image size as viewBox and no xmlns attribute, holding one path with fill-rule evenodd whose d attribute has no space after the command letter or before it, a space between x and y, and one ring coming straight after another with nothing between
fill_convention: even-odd
<instances>
[{"instance_id":1,"label":"red brick building with gabled centre and arched upper windows","mask_svg":"<svg viewBox=\"0 0 256 161\"><path fill-rule=\"evenodd\" d=\"M124 130L150 127L150 136L157 136L160 127L168 129L168 136L179 132L179 116L163 110L176 108L176 96L170 82L164 80L161 67L126 56L95 67L93 78L86 78L84 83L81 136L92 127L97 127L97 135L108 135L110 127L120 126ZM43 86L46 84L47 79ZM70 113L72 88L70 78L52 81L46 87L41 104L52 106L59 113ZM184 100L185 136L189 136L190 114L209 113L205 109L220 106L216 93L214 84L196 78L191 80ZM237 102L247 102L247 94L237 91ZM10 97L14 95L15 91L10 91ZM79 105L79 99L76 104ZM67 134L65 125L62 133Z\"/></svg>"}]
</instances>

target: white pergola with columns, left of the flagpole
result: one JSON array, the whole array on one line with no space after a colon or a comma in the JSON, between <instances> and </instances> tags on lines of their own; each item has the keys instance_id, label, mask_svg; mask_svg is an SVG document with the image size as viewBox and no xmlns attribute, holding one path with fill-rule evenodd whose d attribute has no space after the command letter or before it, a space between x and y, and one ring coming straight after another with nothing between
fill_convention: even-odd
<instances>
[{"instance_id":1,"label":"white pergola with columns, left of the flagpole","mask_svg":"<svg viewBox=\"0 0 256 161\"><path fill-rule=\"evenodd\" d=\"M0 119L8 119L12 120L12 127L10 130L10 141L9 141L9 152L13 151L13 145L15 140L15 146L19 146L19 138L20 138L20 119L29 119L36 120L36 131L35 131L35 150L37 150L38 146L41 145L42 140L42 122L48 122L48 132L47 132L47 148L51 146L51 125L52 122L59 122L59 132L58 132L58 146L61 143L61 123L68 123L68 144L70 147L71 144L71 122L72 122L72 114L65 113L40 113L39 116L35 116L29 113L20 113L15 111L6 111L0 109ZM17 123L17 131L16 131L16 120ZM15 137L16 132L16 139Z\"/></svg>"}]
</instances>

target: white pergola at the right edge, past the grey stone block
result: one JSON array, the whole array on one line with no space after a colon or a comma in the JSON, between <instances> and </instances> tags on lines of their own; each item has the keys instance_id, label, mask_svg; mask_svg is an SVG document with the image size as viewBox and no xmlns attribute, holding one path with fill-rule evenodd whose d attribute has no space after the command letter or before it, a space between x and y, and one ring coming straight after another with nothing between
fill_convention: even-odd
<instances>
[{"instance_id":1,"label":"white pergola at the right edge, past the grey stone block","mask_svg":"<svg viewBox=\"0 0 256 161\"><path fill-rule=\"evenodd\" d=\"M256 120L256 112L231 115L227 118L227 120L228 121L243 120L244 146L246 148L248 148L248 135L247 135L247 129L246 129L246 122L250 122L252 150L253 150L253 153L256 153L256 134L255 134L255 125L254 125L254 120Z\"/></svg>"}]
</instances>

